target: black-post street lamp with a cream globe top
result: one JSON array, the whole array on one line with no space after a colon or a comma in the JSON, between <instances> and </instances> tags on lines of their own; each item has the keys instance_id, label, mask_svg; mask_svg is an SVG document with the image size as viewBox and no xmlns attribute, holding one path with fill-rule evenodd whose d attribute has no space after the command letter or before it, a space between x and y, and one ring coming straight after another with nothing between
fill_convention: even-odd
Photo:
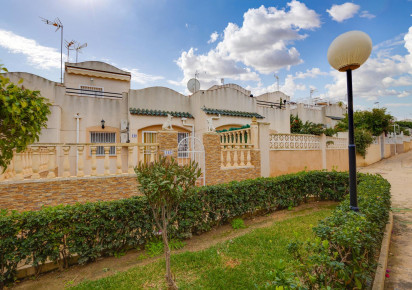
<instances>
[{"instance_id":1,"label":"black-post street lamp with a cream globe top","mask_svg":"<svg viewBox=\"0 0 412 290\"><path fill-rule=\"evenodd\" d=\"M350 209L359 211L356 194L356 151L353 134L352 70L359 68L372 51L372 40L362 31L349 31L336 37L328 49L329 64L340 72L346 72L348 89L349 127L349 193Z\"/></svg>"}]
</instances>

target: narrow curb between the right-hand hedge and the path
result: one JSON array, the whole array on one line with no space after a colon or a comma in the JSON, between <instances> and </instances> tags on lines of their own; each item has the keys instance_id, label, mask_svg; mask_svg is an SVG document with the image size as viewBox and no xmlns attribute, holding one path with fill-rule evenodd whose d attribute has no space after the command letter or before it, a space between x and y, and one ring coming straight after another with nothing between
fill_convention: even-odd
<instances>
[{"instance_id":1,"label":"narrow curb between the right-hand hedge and the path","mask_svg":"<svg viewBox=\"0 0 412 290\"><path fill-rule=\"evenodd\" d=\"M391 234L393 228L393 214L389 213L389 223L386 225L383 234L381 254L379 255L378 267L375 272L372 290L383 290L385 286L386 268L388 266L389 245L391 243Z\"/></svg>"}]
</instances>

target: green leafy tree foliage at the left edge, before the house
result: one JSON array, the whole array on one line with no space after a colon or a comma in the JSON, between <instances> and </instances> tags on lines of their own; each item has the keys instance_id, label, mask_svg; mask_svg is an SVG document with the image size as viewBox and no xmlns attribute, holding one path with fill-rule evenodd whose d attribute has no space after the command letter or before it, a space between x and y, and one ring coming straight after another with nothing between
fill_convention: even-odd
<instances>
[{"instance_id":1,"label":"green leafy tree foliage at the left edge, before the house","mask_svg":"<svg viewBox=\"0 0 412 290\"><path fill-rule=\"evenodd\" d=\"M10 82L2 71L7 72L0 65L0 167L6 170L13 158L13 149L22 152L27 145L39 140L50 114L50 104L39 91Z\"/></svg>"}]
</instances>

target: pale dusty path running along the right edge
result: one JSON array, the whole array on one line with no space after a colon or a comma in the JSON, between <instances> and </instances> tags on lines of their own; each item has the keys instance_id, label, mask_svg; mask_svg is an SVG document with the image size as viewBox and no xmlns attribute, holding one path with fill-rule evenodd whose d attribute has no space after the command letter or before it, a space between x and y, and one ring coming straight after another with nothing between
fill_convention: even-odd
<instances>
[{"instance_id":1,"label":"pale dusty path running along the right edge","mask_svg":"<svg viewBox=\"0 0 412 290\"><path fill-rule=\"evenodd\" d=\"M359 169L391 183L394 228L385 289L412 289L412 151Z\"/></svg>"}]
</instances>

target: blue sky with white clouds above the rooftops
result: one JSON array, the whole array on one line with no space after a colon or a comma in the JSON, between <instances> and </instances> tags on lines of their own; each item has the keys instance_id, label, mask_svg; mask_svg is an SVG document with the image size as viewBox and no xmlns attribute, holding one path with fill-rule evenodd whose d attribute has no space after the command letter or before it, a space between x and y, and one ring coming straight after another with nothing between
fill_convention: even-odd
<instances>
[{"instance_id":1,"label":"blue sky with white clouds above the rooftops","mask_svg":"<svg viewBox=\"0 0 412 290\"><path fill-rule=\"evenodd\" d=\"M277 89L276 74L292 100L311 89L313 97L345 100L345 74L326 54L339 34L362 30L374 47L353 72L355 107L412 119L411 0L15 0L2 10L0 63L10 71L59 81L60 33L39 18L59 17L65 40L88 43L79 61L131 71L132 88L187 94L197 71L202 89L224 78L258 95Z\"/></svg>"}]
</instances>

